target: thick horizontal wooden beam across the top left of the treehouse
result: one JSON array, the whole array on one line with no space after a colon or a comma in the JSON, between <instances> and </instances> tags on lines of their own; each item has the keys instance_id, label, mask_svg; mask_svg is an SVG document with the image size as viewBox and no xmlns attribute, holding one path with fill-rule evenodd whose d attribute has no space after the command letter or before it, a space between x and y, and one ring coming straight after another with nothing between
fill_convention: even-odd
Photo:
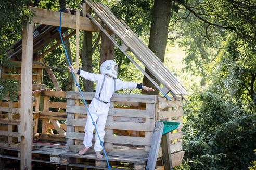
<instances>
[{"instance_id":1,"label":"thick horizontal wooden beam across the top left of the treehouse","mask_svg":"<svg viewBox=\"0 0 256 170\"><path fill-rule=\"evenodd\" d=\"M32 12L35 12L36 16L33 17L33 20L35 23L59 26L60 12L50 11L50 10L40 9L35 7L29 7L29 9ZM62 20L61 27L76 29L76 17L74 15L62 12L61 20ZM80 30L93 31L93 32L100 31L98 27L95 24L93 24L87 17L80 16L79 21L80 21L80 26L79 26Z\"/></svg>"}]
</instances>

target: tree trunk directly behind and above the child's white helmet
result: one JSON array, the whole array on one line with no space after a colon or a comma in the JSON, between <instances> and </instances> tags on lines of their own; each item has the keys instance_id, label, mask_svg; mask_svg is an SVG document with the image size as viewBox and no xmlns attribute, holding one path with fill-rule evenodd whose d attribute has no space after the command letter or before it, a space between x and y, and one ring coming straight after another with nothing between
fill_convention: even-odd
<instances>
[{"instance_id":1,"label":"tree trunk directly behind and above the child's white helmet","mask_svg":"<svg viewBox=\"0 0 256 170\"><path fill-rule=\"evenodd\" d=\"M104 33L101 34L101 45L99 53L99 67L106 60L114 60L114 44Z\"/></svg>"}]
</instances>

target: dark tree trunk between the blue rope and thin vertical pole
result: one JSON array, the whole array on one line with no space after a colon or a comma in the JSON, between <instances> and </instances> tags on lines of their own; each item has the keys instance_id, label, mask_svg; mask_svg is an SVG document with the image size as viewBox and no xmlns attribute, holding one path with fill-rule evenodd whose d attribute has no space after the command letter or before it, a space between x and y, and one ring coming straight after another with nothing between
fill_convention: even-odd
<instances>
[{"instance_id":1,"label":"dark tree trunk between the blue rope and thin vertical pole","mask_svg":"<svg viewBox=\"0 0 256 170\"><path fill-rule=\"evenodd\" d=\"M66 0L59 0L60 9L66 6ZM63 33L65 36L68 35L68 31ZM70 62L70 65L73 65L72 56L71 56L71 50L70 50L70 43L69 40L64 41L64 46L67 51L68 59ZM67 60L67 65L69 65ZM66 91L75 91L75 80L71 72L68 72L68 84Z\"/></svg>"}]
</instances>

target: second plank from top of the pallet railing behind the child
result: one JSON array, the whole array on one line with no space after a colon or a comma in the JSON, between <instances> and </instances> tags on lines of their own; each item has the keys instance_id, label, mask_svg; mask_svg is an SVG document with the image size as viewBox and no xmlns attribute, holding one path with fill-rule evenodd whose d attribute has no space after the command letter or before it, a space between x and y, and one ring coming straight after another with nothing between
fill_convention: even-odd
<instances>
[{"instance_id":1,"label":"second plank from top of the pallet railing behind the child","mask_svg":"<svg viewBox=\"0 0 256 170\"><path fill-rule=\"evenodd\" d=\"M87 114L87 108L85 106L66 106L66 111L70 113ZM138 110L138 109L119 109L110 108L109 116L121 116L121 117L139 117L139 118L154 118L153 110Z\"/></svg>"}]
</instances>

